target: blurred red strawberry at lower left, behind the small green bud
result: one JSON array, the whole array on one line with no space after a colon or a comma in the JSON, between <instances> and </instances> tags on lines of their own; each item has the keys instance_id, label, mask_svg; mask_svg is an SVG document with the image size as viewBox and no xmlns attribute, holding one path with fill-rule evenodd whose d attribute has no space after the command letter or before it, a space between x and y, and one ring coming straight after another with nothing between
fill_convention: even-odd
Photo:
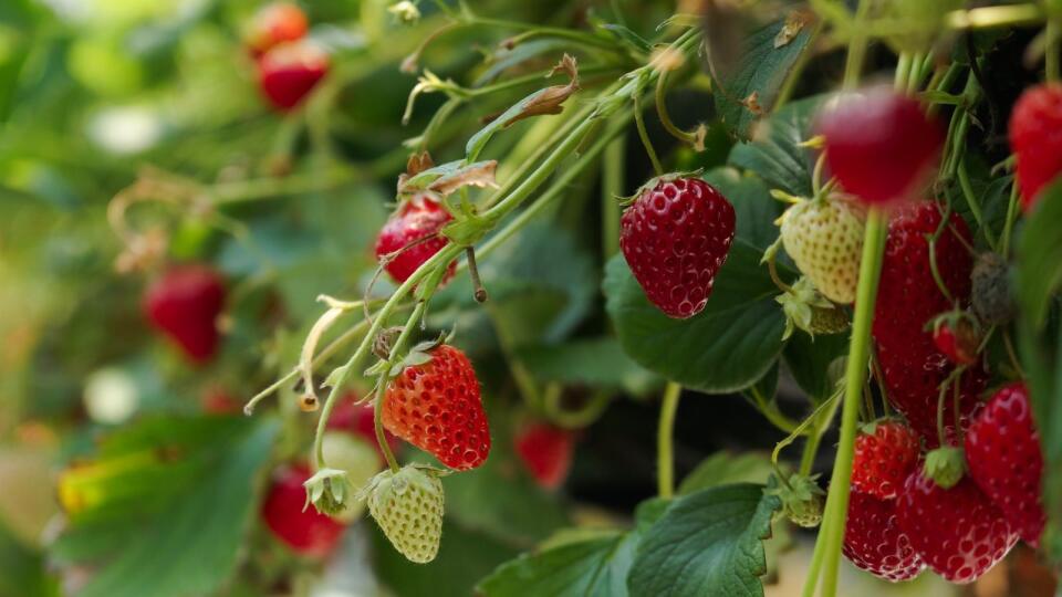
<instances>
[{"instance_id":1,"label":"blurred red strawberry at lower left, behind the small green bud","mask_svg":"<svg viewBox=\"0 0 1062 597\"><path fill-rule=\"evenodd\" d=\"M277 470L261 515L266 526L292 551L308 557L324 557L335 548L345 527L313 506L305 507L306 490L302 484L312 474L304 464Z\"/></svg>"}]
</instances>

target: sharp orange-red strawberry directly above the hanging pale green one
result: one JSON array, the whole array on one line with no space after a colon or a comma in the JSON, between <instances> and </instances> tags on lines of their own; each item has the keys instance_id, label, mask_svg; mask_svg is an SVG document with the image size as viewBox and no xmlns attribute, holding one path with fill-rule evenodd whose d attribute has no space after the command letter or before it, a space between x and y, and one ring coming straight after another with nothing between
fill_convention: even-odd
<instances>
[{"instance_id":1,"label":"sharp orange-red strawberry directly above the hanging pale green one","mask_svg":"<svg viewBox=\"0 0 1062 597\"><path fill-rule=\"evenodd\" d=\"M451 469L475 469L490 452L476 371L465 353L446 344L428 356L387 385L384 426Z\"/></svg>"}]
</instances>

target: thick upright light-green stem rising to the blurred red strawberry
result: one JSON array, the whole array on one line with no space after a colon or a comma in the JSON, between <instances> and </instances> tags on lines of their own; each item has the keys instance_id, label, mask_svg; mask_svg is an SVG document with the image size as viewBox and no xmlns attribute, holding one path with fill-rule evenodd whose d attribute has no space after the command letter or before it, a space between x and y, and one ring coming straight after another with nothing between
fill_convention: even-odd
<instances>
[{"instance_id":1,"label":"thick upright light-green stem rising to the blurred red strawberry","mask_svg":"<svg viewBox=\"0 0 1062 597\"><path fill-rule=\"evenodd\" d=\"M841 411L841 437L837 443L837 458L833 464L833 474L830 478L830 496L826 500L824 516L826 532L824 534L820 532L819 534L819 541L824 541L822 561L825 570L822 578L822 594L825 597L834 597L837 590L837 567L840 566L841 544L844 537L844 520L847 516L848 509L853 448L863 392L863 379L866 377L867 359L870 358L871 322L874 317L877 282L882 271L882 256L887 231L886 220L885 212L877 208L871 208L866 219L863 258L860 264L860 282L856 289L855 316L852 323L852 338L844 378L845 396Z\"/></svg>"}]
</instances>

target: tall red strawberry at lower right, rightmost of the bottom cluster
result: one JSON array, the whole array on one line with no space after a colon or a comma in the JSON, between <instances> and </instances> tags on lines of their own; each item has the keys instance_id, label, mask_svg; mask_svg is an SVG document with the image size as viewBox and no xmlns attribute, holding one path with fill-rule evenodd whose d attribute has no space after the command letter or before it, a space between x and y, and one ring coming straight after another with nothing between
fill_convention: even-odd
<instances>
[{"instance_id":1,"label":"tall red strawberry at lower right, rightmost of the bottom cluster","mask_svg":"<svg viewBox=\"0 0 1062 597\"><path fill-rule=\"evenodd\" d=\"M1047 522L1040 502L1043 454L1023 384L1003 387L978 412L966 432L966 460L977 486L1025 543L1039 546Z\"/></svg>"}]
</instances>

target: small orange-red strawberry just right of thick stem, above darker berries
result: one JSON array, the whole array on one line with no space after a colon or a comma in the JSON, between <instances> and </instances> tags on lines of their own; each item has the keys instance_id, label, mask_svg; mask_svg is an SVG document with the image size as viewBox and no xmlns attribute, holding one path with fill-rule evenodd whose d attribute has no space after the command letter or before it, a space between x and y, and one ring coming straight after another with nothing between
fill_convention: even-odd
<instances>
[{"instance_id":1,"label":"small orange-red strawberry just right of thick stem, above darker berries","mask_svg":"<svg viewBox=\"0 0 1062 597\"><path fill-rule=\"evenodd\" d=\"M918 462L918 434L899 421L882 421L855 438L852 489L878 500L896 498Z\"/></svg>"}]
</instances>

